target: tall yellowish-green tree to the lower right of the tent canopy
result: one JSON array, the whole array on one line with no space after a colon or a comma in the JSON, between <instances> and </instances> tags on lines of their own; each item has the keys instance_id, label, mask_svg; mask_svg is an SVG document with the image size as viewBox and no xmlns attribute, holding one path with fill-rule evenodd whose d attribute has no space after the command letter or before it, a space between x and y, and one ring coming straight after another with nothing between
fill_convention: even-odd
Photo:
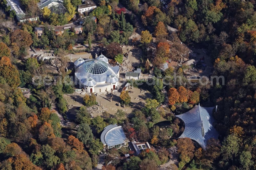
<instances>
[{"instance_id":1,"label":"tall yellowish-green tree to the lower right of the tent canopy","mask_svg":"<svg viewBox=\"0 0 256 170\"><path fill-rule=\"evenodd\" d=\"M221 153L223 160L232 159L236 156L239 150L239 138L236 135L228 135L222 142Z\"/></svg>"}]
</instances>

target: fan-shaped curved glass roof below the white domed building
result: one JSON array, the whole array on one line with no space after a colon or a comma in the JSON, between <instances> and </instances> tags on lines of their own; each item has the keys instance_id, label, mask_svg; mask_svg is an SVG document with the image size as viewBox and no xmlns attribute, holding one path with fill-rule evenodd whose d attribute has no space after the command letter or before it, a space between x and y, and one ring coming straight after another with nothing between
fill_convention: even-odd
<instances>
[{"instance_id":1,"label":"fan-shaped curved glass roof below the white domed building","mask_svg":"<svg viewBox=\"0 0 256 170\"><path fill-rule=\"evenodd\" d=\"M126 136L122 126L109 125L104 128L100 136L101 142L109 147L124 143Z\"/></svg>"}]
</instances>

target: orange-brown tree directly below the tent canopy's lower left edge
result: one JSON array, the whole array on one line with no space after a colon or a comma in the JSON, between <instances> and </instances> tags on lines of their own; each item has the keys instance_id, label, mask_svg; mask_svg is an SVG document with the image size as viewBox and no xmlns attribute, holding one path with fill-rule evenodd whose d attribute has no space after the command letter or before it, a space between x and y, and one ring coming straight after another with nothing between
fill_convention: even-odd
<instances>
[{"instance_id":1,"label":"orange-brown tree directly below the tent canopy's lower left edge","mask_svg":"<svg viewBox=\"0 0 256 170\"><path fill-rule=\"evenodd\" d=\"M195 146L191 139L179 138L177 140L177 147L182 161L189 162L193 158Z\"/></svg>"}]
</instances>

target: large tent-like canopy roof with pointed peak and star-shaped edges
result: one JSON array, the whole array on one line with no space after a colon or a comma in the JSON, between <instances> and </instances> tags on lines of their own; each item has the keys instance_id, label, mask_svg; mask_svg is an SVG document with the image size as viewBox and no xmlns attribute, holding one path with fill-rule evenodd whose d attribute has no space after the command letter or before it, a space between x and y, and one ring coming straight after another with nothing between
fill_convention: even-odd
<instances>
[{"instance_id":1,"label":"large tent-like canopy roof with pointed peak and star-shaped edges","mask_svg":"<svg viewBox=\"0 0 256 170\"><path fill-rule=\"evenodd\" d=\"M218 132L213 127L215 121L212 110L215 107L195 105L190 111L177 115L185 123L185 130L179 138L190 138L197 141L202 148L206 147L210 138L218 139Z\"/></svg>"}]
</instances>

